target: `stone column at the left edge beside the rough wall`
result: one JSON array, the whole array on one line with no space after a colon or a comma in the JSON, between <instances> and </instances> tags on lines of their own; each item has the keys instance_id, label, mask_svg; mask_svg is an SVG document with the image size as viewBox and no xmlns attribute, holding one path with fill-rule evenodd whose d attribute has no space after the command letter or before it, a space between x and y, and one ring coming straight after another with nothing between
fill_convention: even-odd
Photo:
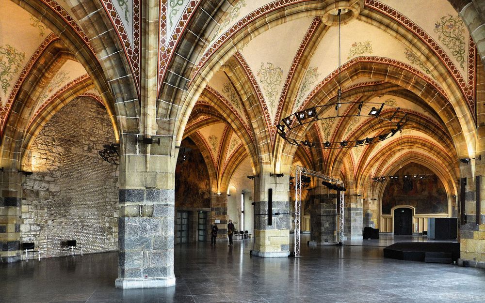
<instances>
[{"instance_id":1,"label":"stone column at the left edge beside the rough wall","mask_svg":"<svg viewBox=\"0 0 485 303\"><path fill-rule=\"evenodd\" d=\"M20 215L23 175L4 168L1 172L0 198L0 263L17 262L21 259Z\"/></svg>"}]
</instances>

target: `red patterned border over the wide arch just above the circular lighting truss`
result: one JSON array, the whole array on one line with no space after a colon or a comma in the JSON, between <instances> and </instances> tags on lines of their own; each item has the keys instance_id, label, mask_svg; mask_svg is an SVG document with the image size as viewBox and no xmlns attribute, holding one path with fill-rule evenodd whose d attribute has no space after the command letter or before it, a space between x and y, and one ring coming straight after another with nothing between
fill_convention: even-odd
<instances>
[{"instance_id":1,"label":"red patterned border over the wide arch just above the circular lighting truss","mask_svg":"<svg viewBox=\"0 0 485 303\"><path fill-rule=\"evenodd\" d=\"M420 77L421 79L423 79L424 81L428 82L429 84L431 84L436 89L436 91L439 91L445 98L448 99L448 96L447 96L446 92L436 83L435 80L433 80L429 76L425 75L424 73L422 73L420 70L414 68L413 66L411 66L409 64L406 64L404 62L401 62L401 61L397 61L397 60L393 60L393 59L389 59L389 58L384 58L384 57L374 57L374 56L357 57L357 58L354 58L352 60L349 60L345 64L343 64L342 65L342 68L341 68L342 69L342 72L344 72L347 68L350 68L350 67L352 67L353 65L355 65L355 64L357 64L359 62L384 63L384 64L388 64L388 65L392 65L392 66L396 66L396 67L402 68L402 69L404 69L404 70L406 70L408 72L411 72L412 74ZM307 97L305 98L305 101L303 101L302 105L298 108L297 111L300 111L303 108L305 108L305 106L307 106L308 102L311 99L313 99L313 97L315 96L315 94L318 91L320 91L323 88L323 86L325 86L327 83L329 83L332 79L334 79L338 75L339 75L339 69L336 69L332 73L330 73L330 75L326 76L307 95Z\"/></svg>"}]
</instances>

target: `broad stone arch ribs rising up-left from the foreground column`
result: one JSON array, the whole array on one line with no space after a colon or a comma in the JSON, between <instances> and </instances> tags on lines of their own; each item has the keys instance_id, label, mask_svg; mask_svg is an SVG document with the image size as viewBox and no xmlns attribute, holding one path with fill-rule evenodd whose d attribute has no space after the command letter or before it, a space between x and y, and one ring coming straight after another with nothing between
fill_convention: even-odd
<instances>
[{"instance_id":1,"label":"broad stone arch ribs rising up-left from the foreground column","mask_svg":"<svg viewBox=\"0 0 485 303\"><path fill-rule=\"evenodd\" d=\"M78 24L90 46L65 20L43 1L17 0L34 17L58 35L85 68L103 100L113 124L120 133L139 133L139 105L136 86L113 26L98 1L83 1L73 7Z\"/></svg>"}]
</instances>

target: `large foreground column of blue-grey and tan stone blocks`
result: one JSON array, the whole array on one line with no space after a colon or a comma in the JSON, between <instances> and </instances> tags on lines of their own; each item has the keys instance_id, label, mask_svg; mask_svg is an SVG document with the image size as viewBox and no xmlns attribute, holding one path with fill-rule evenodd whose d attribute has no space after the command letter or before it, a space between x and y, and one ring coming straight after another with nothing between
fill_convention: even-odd
<instances>
[{"instance_id":1,"label":"large foreground column of blue-grey and tan stone blocks","mask_svg":"<svg viewBox=\"0 0 485 303\"><path fill-rule=\"evenodd\" d=\"M136 145L138 144L138 147ZM120 155L119 265L117 288L175 285L174 216L176 157L167 147L122 137ZM156 155L153 155L156 154Z\"/></svg>"}]
</instances>

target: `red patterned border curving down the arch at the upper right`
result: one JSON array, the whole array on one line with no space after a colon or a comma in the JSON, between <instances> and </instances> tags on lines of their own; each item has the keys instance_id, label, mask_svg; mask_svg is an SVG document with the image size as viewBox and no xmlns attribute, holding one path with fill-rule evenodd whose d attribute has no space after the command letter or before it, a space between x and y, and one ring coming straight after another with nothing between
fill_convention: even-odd
<instances>
[{"instance_id":1,"label":"red patterned border curving down the arch at the upper right","mask_svg":"<svg viewBox=\"0 0 485 303\"><path fill-rule=\"evenodd\" d=\"M463 93L463 96L466 97L469 105L469 109L471 111L472 116L476 120L476 115L475 115L475 88L469 87L469 83L466 83L465 79L463 76L461 76L460 72L456 68L455 64L453 61L450 59L448 54L439 46L436 41L431 38L426 31L421 29L418 25L416 25L414 22L412 22L410 19L408 19L406 16L402 15L398 11L392 9L391 7L387 6L386 4L383 4L377 0L365 0L365 6L368 8L372 8L376 11L381 12L384 15L387 15L389 17L392 17L396 22L404 26L406 29L410 30L413 32L417 37L420 38L422 42L424 42L430 49L432 49L435 54L443 61L445 64L446 68L450 71L450 74L453 76L453 78L456 80L456 83L458 83L459 87L461 88L461 91ZM472 45L470 45L471 47ZM473 45L474 47L474 45ZM471 66L473 67L470 70L470 56L469 56L469 78L470 78L470 73L475 74L475 64L472 63ZM474 77L474 76L473 76Z\"/></svg>"}]
</instances>

